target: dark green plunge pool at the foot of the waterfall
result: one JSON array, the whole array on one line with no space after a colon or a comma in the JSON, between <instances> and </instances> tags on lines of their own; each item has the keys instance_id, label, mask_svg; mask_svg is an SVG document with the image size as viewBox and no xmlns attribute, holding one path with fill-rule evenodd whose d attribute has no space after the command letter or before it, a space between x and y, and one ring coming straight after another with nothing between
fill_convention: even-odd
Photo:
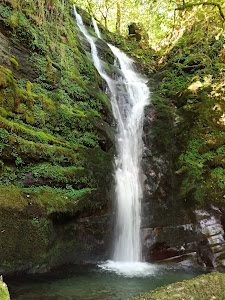
<instances>
[{"instance_id":1,"label":"dark green plunge pool at the foot of the waterfall","mask_svg":"<svg viewBox=\"0 0 225 300\"><path fill-rule=\"evenodd\" d=\"M200 274L146 263L145 271L142 266L142 272L136 276L124 276L115 272L113 262L106 265L108 268L102 264L101 267L73 265L48 274L5 278L5 281L12 300L122 300ZM121 270L121 266L118 268Z\"/></svg>"}]
</instances>

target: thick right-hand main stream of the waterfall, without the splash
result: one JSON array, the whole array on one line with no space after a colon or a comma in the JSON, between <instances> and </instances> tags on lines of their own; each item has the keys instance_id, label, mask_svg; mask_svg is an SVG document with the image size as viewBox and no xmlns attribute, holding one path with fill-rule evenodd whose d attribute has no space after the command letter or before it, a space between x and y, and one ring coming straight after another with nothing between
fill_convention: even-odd
<instances>
[{"instance_id":1,"label":"thick right-hand main stream of the waterfall, without the splash","mask_svg":"<svg viewBox=\"0 0 225 300\"><path fill-rule=\"evenodd\" d=\"M123 74L126 94L119 97L122 126L117 126L116 158L116 241L113 260L141 261L141 198L140 161L143 148L142 127L144 106L148 103L149 89L134 72L132 60L110 45Z\"/></svg>"}]
</instances>

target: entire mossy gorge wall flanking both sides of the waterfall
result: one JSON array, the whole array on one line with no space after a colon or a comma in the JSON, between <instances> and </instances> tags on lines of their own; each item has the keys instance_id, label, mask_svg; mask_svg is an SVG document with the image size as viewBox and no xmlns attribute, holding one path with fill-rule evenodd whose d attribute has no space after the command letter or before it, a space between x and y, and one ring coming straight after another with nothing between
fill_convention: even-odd
<instances>
[{"instance_id":1,"label":"entire mossy gorge wall flanking both sides of the waterfall","mask_svg":"<svg viewBox=\"0 0 225 300\"><path fill-rule=\"evenodd\" d=\"M114 121L90 46L70 5L5 0L0 16L0 271L107 259ZM146 260L224 269L224 40L196 34L190 28L157 56L103 32L136 59L152 92L142 163ZM114 72L110 49L96 45Z\"/></svg>"}]
</instances>

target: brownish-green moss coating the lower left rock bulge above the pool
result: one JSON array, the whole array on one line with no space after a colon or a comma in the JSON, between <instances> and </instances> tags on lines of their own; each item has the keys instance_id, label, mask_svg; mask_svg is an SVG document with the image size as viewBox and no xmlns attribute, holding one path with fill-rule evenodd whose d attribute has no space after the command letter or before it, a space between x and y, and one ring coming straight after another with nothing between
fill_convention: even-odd
<instances>
[{"instance_id":1,"label":"brownish-green moss coating the lower left rock bulge above the pool","mask_svg":"<svg viewBox=\"0 0 225 300\"><path fill-rule=\"evenodd\" d=\"M77 227L72 226L75 221L71 226L65 222L58 232L54 217L59 216L60 220L63 214L66 219L73 216L83 209L89 197L92 198L92 189L76 191L71 186L66 189L0 186L1 266L12 271L59 262L76 244L72 237Z\"/></svg>"}]
</instances>

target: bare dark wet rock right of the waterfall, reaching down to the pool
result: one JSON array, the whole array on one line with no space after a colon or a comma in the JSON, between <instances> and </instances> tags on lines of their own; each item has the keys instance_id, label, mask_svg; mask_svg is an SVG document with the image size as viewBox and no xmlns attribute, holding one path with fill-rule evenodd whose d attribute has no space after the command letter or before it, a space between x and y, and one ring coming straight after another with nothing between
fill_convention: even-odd
<instances>
[{"instance_id":1,"label":"bare dark wet rock right of the waterfall, reaching down to the pool","mask_svg":"<svg viewBox=\"0 0 225 300\"><path fill-rule=\"evenodd\" d=\"M225 212L213 206L196 210L180 200L177 190L182 174L177 174L174 168L176 153L171 144L168 143L167 153L156 145L154 126L158 120L160 112L154 107L146 108L142 159L143 256L149 262L171 263L182 268L225 270ZM164 117L163 120L166 121ZM160 128L161 123L157 125ZM166 137L166 130L164 134Z\"/></svg>"}]
</instances>

